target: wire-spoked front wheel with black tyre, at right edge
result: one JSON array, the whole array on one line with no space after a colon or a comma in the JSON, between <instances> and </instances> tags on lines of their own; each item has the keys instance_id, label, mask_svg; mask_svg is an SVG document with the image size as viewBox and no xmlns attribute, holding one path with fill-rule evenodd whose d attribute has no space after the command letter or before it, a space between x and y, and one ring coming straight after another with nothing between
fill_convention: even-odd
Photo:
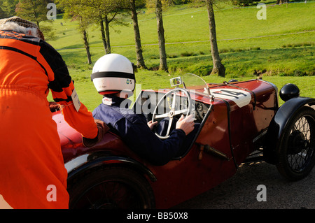
<instances>
[{"instance_id":1,"label":"wire-spoked front wheel with black tyre, at right edge","mask_svg":"<svg viewBox=\"0 0 315 223\"><path fill-rule=\"evenodd\" d=\"M285 127L276 167L288 180L307 176L315 164L315 110L304 106Z\"/></svg>"}]
</instances>

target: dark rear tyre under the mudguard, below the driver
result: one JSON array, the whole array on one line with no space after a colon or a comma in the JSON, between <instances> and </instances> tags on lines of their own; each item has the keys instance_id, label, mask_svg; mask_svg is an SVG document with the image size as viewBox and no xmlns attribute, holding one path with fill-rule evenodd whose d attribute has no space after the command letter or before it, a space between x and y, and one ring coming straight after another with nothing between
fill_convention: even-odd
<instances>
[{"instance_id":1,"label":"dark rear tyre under the mudguard, below the driver","mask_svg":"<svg viewBox=\"0 0 315 223\"><path fill-rule=\"evenodd\" d=\"M71 209L155 208L148 181L130 168L98 168L71 182L68 189Z\"/></svg>"}]
</instances>

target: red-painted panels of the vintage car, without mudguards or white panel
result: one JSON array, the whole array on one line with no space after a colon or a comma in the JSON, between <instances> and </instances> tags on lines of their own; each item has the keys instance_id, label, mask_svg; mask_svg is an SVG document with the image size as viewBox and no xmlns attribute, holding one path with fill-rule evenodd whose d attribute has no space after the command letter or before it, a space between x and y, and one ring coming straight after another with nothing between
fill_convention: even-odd
<instances>
[{"instance_id":1,"label":"red-painted panels of the vintage car, without mudguards or white panel","mask_svg":"<svg viewBox=\"0 0 315 223\"><path fill-rule=\"evenodd\" d=\"M111 132L106 134L101 143L92 148L84 148L80 134L64 122L60 113L56 113L53 118L57 122L64 162L80 154L94 151L109 151L113 155L130 157L144 164L155 175L157 180L153 182L148 179L148 182L155 194L156 208L170 208L191 199L235 174L237 166L257 149L255 144L265 133L276 113L277 92L269 82L250 80L235 82L233 85L237 87L230 85L209 85L209 87L210 89L239 87L246 89L252 96L248 105L239 108L231 100L216 98L211 101L209 96L191 94L193 100L213 104L213 110L186 156L169 161L164 166L153 166L140 159ZM225 154L228 159L207 152L202 152L202 159L200 159L200 144L210 145Z\"/></svg>"}]
</instances>

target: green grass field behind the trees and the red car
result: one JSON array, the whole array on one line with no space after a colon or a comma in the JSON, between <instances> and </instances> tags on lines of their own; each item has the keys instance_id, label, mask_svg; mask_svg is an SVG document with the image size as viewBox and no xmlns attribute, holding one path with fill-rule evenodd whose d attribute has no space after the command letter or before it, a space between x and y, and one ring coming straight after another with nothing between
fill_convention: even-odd
<instances>
[{"instance_id":1,"label":"green grass field behind the trees and the red car","mask_svg":"<svg viewBox=\"0 0 315 223\"><path fill-rule=\"evenodd\" d=\"M315 1L307 3L267 4L267 20L258 20L255 6L237 8L220 3L215 8L220 56L226 69L225 78L207 75L212 67L209 25L205 7L170 6L164 11L167 63L169 73L153 71L159 65L158 35L155 13L144 9L139 13L141 43L146 66L140 70L137 83L142 89L169 87L169 78L181 73L202 75L207 82L223 82L230 78L247 80L262 73L263 79L279 89L287 82L297 84L302 96L315 97ZM63 25L60 23L62 22ZM134 32L129 26L111 26L111 49L136 62ZM55 20L56 40L48 42L56 48L76 82L80 100L90 110L102 99L90 81L92 66L87 64L83 41L76 22ZM104 55L97 27L89 30L92 62Z\"/></svg>"}]
</instances>

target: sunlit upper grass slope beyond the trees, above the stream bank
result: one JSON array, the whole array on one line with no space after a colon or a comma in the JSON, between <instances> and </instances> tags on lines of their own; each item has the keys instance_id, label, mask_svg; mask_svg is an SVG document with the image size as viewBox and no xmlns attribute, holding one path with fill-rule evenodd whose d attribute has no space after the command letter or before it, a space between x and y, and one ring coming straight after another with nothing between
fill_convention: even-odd
<instances>
[{"instance_id":1,"label":"sunlit upper grass slope beyond the trees, above the stream bank","mask_svg":"<svg viewBox=\"0 0 315 223\"><path fill-rule=\"evenodd\" d=\"M314 7L314 1L308 3L290 3L287 5L273 5L270 3L267 5L266 10L267 19L258 20L256 14L259 9L255 6L236 8L228 3L221 3L219 6L215 7L219 48L248 48L253 46L274 48L281 47L281 45L289 42L314 43L314 34L302 34L302 36L293 34L314 31ZM172 6L167 8L163 15L167 43L209 41L209 24L207 9L205 7L190 8L186 5ZM139 13L138 20L141 42L145 45L144 48L146 48L146 44L157 44L158 35L154 11L144 9L142 13ZM60 22L63 23L63 26ZM134 31L130 17L126 18L125 22L127 26L111 26L111 45L113 46L113 50L118 46L134 46ZM76 22L58 19L55 20L54 27L57 31L58 38L56 41L51 41L50 43L55 48L83 48L83 41L80 39L75 29ZM285 36L275 38L276 35ZM92 27L89 36L92 48L102 48L98 28ZM269 38L258 38L261 36L269 36ZM311 36L313 38L311 38ZM240 38L241 41L229 41L235 38ZM207 45L208 49L210 49L209 44ZM134 51L134 49L132 50ZM150 47L148 47L148 51L150 51ZM181 52L181 50L178 51ZM158 53L155 55L158 55ZM130 57L135 56L130 55Z\"/></svg>"}]
</instances>

